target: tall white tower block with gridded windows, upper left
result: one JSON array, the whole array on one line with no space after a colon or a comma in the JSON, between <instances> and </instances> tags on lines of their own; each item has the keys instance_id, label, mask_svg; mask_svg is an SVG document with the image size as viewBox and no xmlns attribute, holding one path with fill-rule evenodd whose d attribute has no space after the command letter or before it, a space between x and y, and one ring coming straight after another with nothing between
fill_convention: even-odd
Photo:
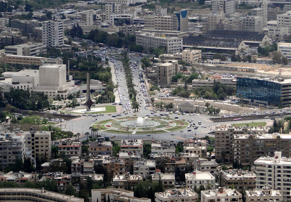
<instances>
[{"instance_id":1,"label":"tall white tower block with gridded windows, upper left","mask_svg":"<svg viewBox=\"0 0 291 202\"><path fill-rule=\"evenodd\" d=\"M63 21L48 20L42 22L42 43L44 46L64 46Z\"/></svg>"}]
</instances>

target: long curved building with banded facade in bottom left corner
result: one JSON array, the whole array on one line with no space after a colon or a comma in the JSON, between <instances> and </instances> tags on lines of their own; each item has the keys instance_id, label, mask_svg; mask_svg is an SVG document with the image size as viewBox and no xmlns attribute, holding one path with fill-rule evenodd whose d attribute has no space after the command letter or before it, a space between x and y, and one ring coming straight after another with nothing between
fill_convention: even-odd
<instances>
[{"instance_id":1,"label":"long curved building with banded facade in bottom left corner","mask_svg":"<svg viewBox=\"0 0 291 202\"><path fill-rule=\"evenodd\" d=\"M6 201L9 199L11 202L30 200L43 201L43 198L45 198L46 202L84 202L84 199L75 196L59 194L56 192L35 188L1 188L0 195L1 201Z\"/></svg>"}]
</instances>

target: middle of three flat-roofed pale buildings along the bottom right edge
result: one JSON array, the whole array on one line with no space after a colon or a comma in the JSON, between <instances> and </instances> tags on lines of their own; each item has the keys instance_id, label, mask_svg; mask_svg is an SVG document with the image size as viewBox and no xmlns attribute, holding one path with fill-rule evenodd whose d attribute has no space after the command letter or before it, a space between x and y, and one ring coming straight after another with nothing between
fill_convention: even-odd
<instances>
[{"instance_id":1,"label":"middle of three flat-roofed pale buildings along the bottom right edge","mask_svg":"<svg viewBox=\"0 0 291 202\"><path fill-rule=\"evenodd\" d=\"M235 189L219 187L216 190L201 191L201 202L239 201L242 202L242 194Z\"/></svg>"}]
</instances>

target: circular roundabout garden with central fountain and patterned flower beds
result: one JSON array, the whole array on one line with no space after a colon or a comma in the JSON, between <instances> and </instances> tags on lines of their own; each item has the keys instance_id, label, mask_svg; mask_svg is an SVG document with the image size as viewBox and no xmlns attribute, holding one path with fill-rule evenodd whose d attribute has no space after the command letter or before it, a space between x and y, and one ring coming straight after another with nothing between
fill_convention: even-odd
<instances>
[{"instance_id":1,"label":"circular roundabout garden with central fountain and patterned flower beds","mask_svg":"<svg viewBox=\"0 0 291 202\"><path fill-rule=\"evenodd\" d=\"M93 125L99 131L109 133L148 134L182 130L188 126L186 121L162 117L126 117L97 121Z\"/></svg>"}]
</instances>

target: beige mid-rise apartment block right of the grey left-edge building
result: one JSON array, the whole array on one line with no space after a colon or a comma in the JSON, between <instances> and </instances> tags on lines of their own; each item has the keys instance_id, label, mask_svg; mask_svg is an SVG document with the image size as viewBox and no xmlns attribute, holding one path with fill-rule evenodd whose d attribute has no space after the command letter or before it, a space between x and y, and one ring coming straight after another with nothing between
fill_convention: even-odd
<instances>
[{"instance_id":1,"label":"beige mid-rise apartment block right of the grey left-edge building","mask_svg":"<svg viewBox=\"0 0 291 202\"><path fill-rule=\"evenodd\" d=\"M51 158L51 132L32 129L30 132L24 133L26 138L26 158L34 159L36 154Z\"/></svg>"}]
</instances>

